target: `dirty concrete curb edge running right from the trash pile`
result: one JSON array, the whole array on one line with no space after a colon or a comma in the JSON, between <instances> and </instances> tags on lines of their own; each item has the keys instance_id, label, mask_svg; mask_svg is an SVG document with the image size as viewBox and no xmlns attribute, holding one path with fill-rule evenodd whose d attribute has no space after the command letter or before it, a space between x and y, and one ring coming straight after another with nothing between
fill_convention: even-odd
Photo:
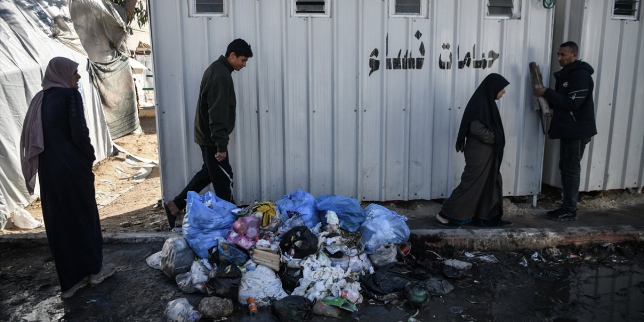
<instances>
[{"instance_id":1,"label":"dirty concrete curb edge running right from the trash pile","mask_svg":"<svg viewBox=\"0 0 644 322\"><path fill-rule=\"evenodd\" d=\"M644 241L644 227L630 225L607 228L567 229L417 229L410 242L415 252L452 247L466 251L522 251L560 245Z\"/></svg>"}]
</instances>

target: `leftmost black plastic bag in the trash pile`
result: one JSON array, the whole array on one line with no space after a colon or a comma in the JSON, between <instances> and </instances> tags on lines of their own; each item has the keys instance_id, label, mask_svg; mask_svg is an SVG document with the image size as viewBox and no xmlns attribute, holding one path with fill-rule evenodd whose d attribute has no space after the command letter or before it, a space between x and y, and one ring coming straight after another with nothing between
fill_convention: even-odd
<instances>
[{"instance_id":1,"label":"leftmost black plastic bag in the trash pile","mask_svg":"<svg viewBox=\"0 0 644 322\"><path fill-rule=\"evenodd\" d=\"M217 269L208 274L206 290L208 296L219 296L220 298L232 299L236 302L240 292L242 271L229 261L224 261Z\"/></svg>"}]
</instances>

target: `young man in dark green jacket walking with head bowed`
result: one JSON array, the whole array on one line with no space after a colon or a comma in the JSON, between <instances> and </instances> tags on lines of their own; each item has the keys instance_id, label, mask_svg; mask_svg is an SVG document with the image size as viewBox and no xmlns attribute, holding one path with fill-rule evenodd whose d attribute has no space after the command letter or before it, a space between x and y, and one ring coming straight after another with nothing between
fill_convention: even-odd
<instances>
[{"instance_id":1,"label":"young man in dark green jacket walking with head bowed","mask_svg":"<svg viewBox=\"0 0 644 322\"><path fill-rule=\"evenodd\" d=\"M231 73L242 70L251 57L251 46L243 39L235 39L228 45L225 56L220 56L204 71L194 115L194 142L202 150L204 165L180 194L164 204L170 228L175 227L176 216L185 208L188 191L200 192L212 183L214 194L235 203L228 158L236 106Z\"/></svg>"}]
</instances>

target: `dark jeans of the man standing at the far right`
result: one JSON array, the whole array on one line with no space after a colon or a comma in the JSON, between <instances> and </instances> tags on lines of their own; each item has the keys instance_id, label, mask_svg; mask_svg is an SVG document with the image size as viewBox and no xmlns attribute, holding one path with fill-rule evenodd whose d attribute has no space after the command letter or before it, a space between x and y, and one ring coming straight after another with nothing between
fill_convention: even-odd
<instances>
[{"instance_id":1,"label":"dark jeans of the man standing at the far right","mask_svg":"<svg viewBox=\"0 0 644 322\"><path fill-rule=\"evenodd\" d=\"M562 138L559 146L559 171L562 175L564 194L562 208L577 210L579 182L582 172L582 156L590 138Z\"/></svg>"}]
</instances>

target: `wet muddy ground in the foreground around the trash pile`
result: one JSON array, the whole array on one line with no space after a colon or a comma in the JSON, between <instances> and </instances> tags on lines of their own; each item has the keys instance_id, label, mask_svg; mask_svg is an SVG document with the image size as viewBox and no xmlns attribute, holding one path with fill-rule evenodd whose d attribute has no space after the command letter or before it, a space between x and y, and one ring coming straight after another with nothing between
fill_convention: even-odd
<instances>
[{"instance_id":1,"label":"wet muddy ground in the foreground around the trash pile","mask_svg":"<svg viewBox=\"0 0 644 322\"><path fill-rule=\"evenodd\" d=\"M161 248L162 243L105 245L105 261L117 265L117 274L66 300L60 298L48 247L0 249L0 321L162 321L172 299L185 297L196 307L204 295L183 294L161 270L147 266L146 256ZM432 297L419 310L419 321L644 321L644 243L474 253L493 255L498 263L449 249L412 254L415 259L403 260L436 277L445 277L440 258L473 263L459 278L448 279L455 287L450 294ZM404 299L382 303L365 297L358 308L342 320L408 321L416 312ZM261 307L249 316L236 304L228 321L277 321L269 311Z\"/></svg>"}]
</instances>

